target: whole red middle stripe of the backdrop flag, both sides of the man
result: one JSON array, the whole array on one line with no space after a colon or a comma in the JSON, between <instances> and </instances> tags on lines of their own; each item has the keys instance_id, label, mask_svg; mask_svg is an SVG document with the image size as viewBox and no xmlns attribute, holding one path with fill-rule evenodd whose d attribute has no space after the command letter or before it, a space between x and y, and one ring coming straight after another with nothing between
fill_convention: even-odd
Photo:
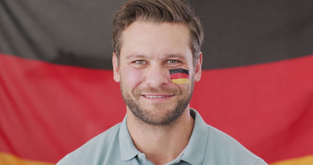
<instances>
[{"instance_id":1,"label":"whole red middle stripe of the backdrop flag, both sides of the man","mask_svg":"<svg viewBox=\"0 0 313 165\"><path fill-rule=\"evenodd\" d=\"M191 107L268 163L313 154L312 63L311 55L204 70ZM4 54L0 111L0 150L45 162L57 162L126 113L110 70Z\"/></svg>"}]
</instances>

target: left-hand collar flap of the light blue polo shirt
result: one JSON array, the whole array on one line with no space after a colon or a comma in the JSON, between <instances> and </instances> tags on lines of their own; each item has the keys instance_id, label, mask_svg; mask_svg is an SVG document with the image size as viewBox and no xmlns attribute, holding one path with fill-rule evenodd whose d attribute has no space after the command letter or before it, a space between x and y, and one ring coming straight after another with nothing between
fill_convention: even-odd
<instances>
[{"instance_id":1,"label":"left-hand collar flap of the light blue polo shirt","mask_svg":"<svg viewBox=\"0 0 313 165\"><path fill-rule=\"evenodd\" d=\"M120 142L120 151L121 151L121 161L126 161L134 158L140 151L135 147L131 135L129 134L126 117L121 123L120 131L119 131L119 142Z\"/></svg>"}]
</instances>

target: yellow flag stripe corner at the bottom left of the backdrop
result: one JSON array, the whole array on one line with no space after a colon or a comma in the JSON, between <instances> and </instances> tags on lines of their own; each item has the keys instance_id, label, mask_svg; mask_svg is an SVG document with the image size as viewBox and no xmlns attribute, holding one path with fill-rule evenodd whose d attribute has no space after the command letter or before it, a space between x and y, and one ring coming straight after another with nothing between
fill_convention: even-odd
<instances>
[{"instance_id":1,"label":"yellow flag stripe corner at the bottom left of the backdrop","mask_svg":"<svg viewBox=\"0 0 313 165\"><path fill-rule=\"evenodd\" d=\"M55 163L26 160L10 153L0 152L0 165L55 165Z\"/></svg>"}]
</instances>

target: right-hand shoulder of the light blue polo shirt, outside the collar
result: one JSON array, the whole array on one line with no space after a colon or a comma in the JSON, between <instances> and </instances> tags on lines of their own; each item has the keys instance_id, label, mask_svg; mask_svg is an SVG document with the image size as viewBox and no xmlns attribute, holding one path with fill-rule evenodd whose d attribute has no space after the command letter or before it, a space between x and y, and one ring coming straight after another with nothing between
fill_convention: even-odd
<instances>
[{"instance_id":1,"label":"right-hand shoulder of the light blue polo shirt, outside the collar","mask_svg":"<svg viewBox=\"0 0 313 165\"><path fill-rule=\"evenodd\" d=\"M208 142L204 162L212 159L212 155L217 157L218 164L251 164L266 165L263 159L250 152L237 140L228 134L208 125Z\"/></svg>"}]
</instances>

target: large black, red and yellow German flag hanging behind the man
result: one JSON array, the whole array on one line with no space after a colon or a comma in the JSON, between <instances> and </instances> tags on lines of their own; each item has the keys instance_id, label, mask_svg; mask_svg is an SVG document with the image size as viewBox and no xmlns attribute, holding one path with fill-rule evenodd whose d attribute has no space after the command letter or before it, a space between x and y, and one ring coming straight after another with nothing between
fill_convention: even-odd
<instances>
[{"instance_id":1,"label":"large black, red and yellow German flag hanging behind the man","mask_svg":"<svg viewBox=\"0 0 313 165\"><path fill-rule=\"evenodd\" d=\"M0 0L0 164L56 163L122 121L124 1ZM191 107L272 165L313 164L313 1L190 1L205 29Z\"/></svg>"}]
</instances>

